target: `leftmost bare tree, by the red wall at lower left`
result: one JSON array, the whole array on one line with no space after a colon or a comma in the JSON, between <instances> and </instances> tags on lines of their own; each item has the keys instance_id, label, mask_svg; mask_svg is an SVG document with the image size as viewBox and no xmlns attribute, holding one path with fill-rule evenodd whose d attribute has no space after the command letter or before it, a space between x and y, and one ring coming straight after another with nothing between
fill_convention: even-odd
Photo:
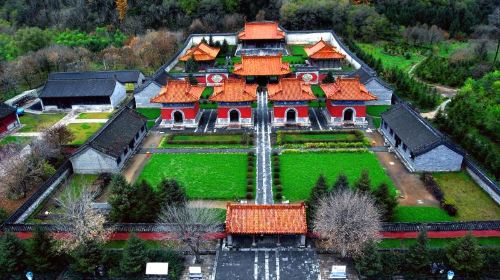
<instances>
[{"instance_id":1,"label":"leftmost bare tree, by the red wall at lower left","mask_svg":"<svg viewBox=\"0 0 500 280\"><path fill-rule=\"evenodd\" d=\"M67 188L57 202L62 208L61 224L69 225L71 235L60 243L60 250L73 250L87 241L103 243L108 240L111 229L105 227L106 217L102 212L92 208L94 193L84 186L81 190Z\"/></svg>"}]
</instances>

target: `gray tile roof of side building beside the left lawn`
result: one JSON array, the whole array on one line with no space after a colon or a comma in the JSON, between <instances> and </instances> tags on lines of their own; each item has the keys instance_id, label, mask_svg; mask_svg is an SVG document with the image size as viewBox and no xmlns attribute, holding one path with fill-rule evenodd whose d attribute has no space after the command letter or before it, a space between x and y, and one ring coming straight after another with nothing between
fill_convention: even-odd
<instances>
[{"instance_id":1,"label":"gray tile roof of side building beside the left lawn","mask_svg":"<svg viewBox=\"0 0 500 280\"><path fill-rule=\"evenodd\" d=\"M127 106L120 109L74 154L86 148L94 148L106 155L118 158L137 132L146 125L147 119Z\"/></svg>"}]
</instances>

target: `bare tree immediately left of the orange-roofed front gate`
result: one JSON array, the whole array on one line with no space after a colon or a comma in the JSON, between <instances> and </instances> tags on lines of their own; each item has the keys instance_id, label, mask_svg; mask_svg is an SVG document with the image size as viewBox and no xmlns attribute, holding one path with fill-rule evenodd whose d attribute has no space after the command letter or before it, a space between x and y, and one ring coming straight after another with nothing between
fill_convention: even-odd
<instances>
[{"instance_id":1,"label":"bare tree immediately left of the orange-roofed front gate","mask_svg":"<svg viewBox=\"0 0 500 280\"><path fill-rule=\"evenodd\" d=\"M195 262L199 260L206 235L222 230L217 212L197 204L191 207L168 205L160 213L158 222L172 225L174 234L194 254Z\"/></svg>"}]
</instances>

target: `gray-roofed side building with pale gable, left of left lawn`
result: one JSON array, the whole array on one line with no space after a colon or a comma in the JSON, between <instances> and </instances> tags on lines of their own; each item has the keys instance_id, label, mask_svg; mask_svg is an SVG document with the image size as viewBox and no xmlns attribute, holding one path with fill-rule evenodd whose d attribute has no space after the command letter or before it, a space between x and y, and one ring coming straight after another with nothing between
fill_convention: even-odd
<instances>
[{"instance_id":1,"label":"gray-roofed side building with pale gable, left of left lawn","mask_svg":"<svg viewBox=\"0 0 500 280\"><path fill-rule=\"evenodd\" d=\"M117 173L146 135L147 119L129 107L120 109L71 157L75 173Z\"/></svg>"}]
</instances>

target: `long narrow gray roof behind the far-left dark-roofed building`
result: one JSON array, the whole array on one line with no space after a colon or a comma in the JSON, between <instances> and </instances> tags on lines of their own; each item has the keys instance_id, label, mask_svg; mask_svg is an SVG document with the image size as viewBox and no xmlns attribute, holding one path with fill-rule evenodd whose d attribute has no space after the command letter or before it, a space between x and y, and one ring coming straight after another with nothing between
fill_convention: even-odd
<instances>
[{"instance_id":1,"label":"long narrow gray roof behind the far-left dark-roofed building","mask_svg":"<svg viewBox=\"0 0 500 280\"><path fill-rule=\"evenodd\" d=\"M54 72L49 74L49 80L116 79L121 83L137 83L140 76L139 70Z\"/></svg>"}]
</instances>

